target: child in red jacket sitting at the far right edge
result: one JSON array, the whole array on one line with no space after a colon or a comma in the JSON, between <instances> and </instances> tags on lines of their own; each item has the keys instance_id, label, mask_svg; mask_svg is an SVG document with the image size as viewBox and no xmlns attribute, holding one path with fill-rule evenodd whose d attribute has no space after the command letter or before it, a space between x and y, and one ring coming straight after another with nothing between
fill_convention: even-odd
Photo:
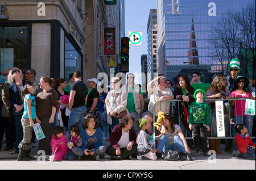
<instances>
[{"instance_id":1,"label":"child in red jacket sitting at the far right edge","mask_svg":"<svg viewBox=\"0 0 256 181\"><path fill-rule=\"evenodd\" d=\"M237 124L235 130L238 133L236 136L236 144L240 152L238 152L236 157L255 160L255 145L247 133L247 128L243 124Z\"/></svg>"}]
</instances>

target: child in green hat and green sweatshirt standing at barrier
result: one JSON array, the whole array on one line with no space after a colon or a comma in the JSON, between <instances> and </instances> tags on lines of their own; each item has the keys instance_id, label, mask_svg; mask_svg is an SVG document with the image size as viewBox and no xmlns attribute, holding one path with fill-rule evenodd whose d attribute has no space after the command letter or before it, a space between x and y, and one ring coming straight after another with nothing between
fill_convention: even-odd
<instances>
[{"instance_id":1,"label":"child in green hat and green sweatshirt standing at barrier","mask_svg":"<svg viewBox=\"0 0 256 181\"><path fill-rule=\"evenodd\" d=\"M195 157L209 156L207 147L207 131L210 131L210 109L204 102L206 95L203 89L197 89L194 93L196 101L191 103L189 111L189 129L192 130L196 147Z\"/></svg>"}]
</instances>

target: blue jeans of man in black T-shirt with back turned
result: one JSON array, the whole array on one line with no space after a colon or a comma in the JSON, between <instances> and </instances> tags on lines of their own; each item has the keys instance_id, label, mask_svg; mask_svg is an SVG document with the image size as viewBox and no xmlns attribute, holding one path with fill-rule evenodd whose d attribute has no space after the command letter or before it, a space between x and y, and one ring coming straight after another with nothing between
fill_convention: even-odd
<instances>
[{"instance_id":1,"label":"blue jeans of man in black T-shirt with back turned","mask_svg":"<svg viewBox=\"0 0 256 181\"><path fill-rule=\"evenodd\" d=\"M84 116L86 115L87 108L85 106L72 108L69 112L68 119L68 135L70 136L69 128L74 125L76 122L79 122L78 127L80 132L82 131L82 121L84 120Z\"/></svg>"}]
</instances>

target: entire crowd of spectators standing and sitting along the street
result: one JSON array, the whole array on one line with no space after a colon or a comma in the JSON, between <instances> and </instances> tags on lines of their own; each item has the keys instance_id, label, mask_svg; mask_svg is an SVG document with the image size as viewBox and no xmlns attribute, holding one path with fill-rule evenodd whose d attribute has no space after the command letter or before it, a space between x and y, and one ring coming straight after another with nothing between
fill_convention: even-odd
<instances>
[{"instance_id":1,"label":"entire crowd of spectators standing and sitting along the street","mask_svg":"<svg viewBox=\"0 0 256 181\"><path fill-rule=\"evenodd\" d=\"M137 159L191 161L192 148L195 157L209 157L209 150L222 154L214 101L219 99L224 102L226 137L236 137L225 140L225 151L255 159L250 139L255 136L255 116L245 115L245 99L255 99L255 79L238 75L241 71L239 60L233 59L228 77L218 74L206 84L195 72L192 81L180 75L175 87L159 75L148 83L146 92L135 85L134 74L129 73L125 86L119 77L113 77L112 90L98 92L97 87L104 88L100 82L86 79L88 89L79 71L70 74L68 82L48 76L38 82L34 69L27 70L24 78L19 68L13 68L1 90L0 150L5 133L3 150L18 154L17 161L36 159L39 155L32 157L30 151L36 141L33 127L38 123L45 136L38 149L55 155L55 160L98 161L107 153L112 160L135 155ZM232 98L235 100L228 101ZM172 99L171 103L164 101ZM159 138L155 149L149 142L154 132ZM103 140L110 141L108 148Z\"/></svg>"}]
</instances>

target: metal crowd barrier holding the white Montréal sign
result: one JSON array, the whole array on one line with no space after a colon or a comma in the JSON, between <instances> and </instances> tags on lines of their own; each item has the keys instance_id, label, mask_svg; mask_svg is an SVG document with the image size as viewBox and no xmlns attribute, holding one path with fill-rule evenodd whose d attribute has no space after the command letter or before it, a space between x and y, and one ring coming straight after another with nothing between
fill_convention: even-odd
<instances>
[{"instance_id":1,"label":"metal crowd barrier holding the white Montr\u00e9al sign","mask_svg":"<svg viewBox=\"0 0 256 181\"><path fill-rule=\"evenodd\" d=\"M209 134L208 139L234 139L234 138L236 138L237 133L234 134L234 132L236 132L235 129L234 129L234 126L237 124L237 121L235 119L236 116L234 116L234 108L236 107L236 101L235 101L234 106L230 107L230 102L232 100L241 101L241 103L242 103L242 100L245 100L245 99L227 99L227 100L205 99L204 100L206 103L208 103L208 105L210 107L210 109L209 109L210 110L210 131L209 131L210 134L208 133ZM217 134L217 137L214 137L213 136L213 126L215 126L215 125L212 125L212 123L214 121L213 119L216 120L216 112L221 112L221 111L216 110L216 107L211 106L211 103L212 102L216 103L217 101L218 101L218 103L222 102L222 105L223 105L223 107L222 107L222 112L223 112L222 116L223 117L222 117L221 127L220 127L220 125L219 125L219 127L217 127L217 124L216 124L216 129L215 130L217 131L218 134ZM178 99L162 100L162 103L160 103L160 111L163 111L164 113L166 113L167 110L162 110L161 108L162 107L168 108L168 106L169 106L170 107L169 113L171 113L172 117L174 117L175 123L180 125L180 127L183 127L183 125L181 125L183 123L181 123L181 112L180 112L180 103L179 102L182 102L182 100L178 100ZM155 113L155 106L157 104L159 104L159 102L156 102L154 104L153 115ZM225 106L226 106L226 108L225 108ZM219 108L221 110L221 106L219 106ZM189 110L188 110L188 112L189 112ZM214 117L214 115L215 115L215 117ZM220 117L218 117L218 119L219 118ZM153 123L156 122L156 119L157 119L157 115L154 115L153 116ZM247 128L249 134L250 134L250 129L252 129L253 119L254 119L254 116L252 116L252 120L250 120L251 121L251 124L250 124L251 126L249 128ZM216 120L215 123L217 123L217 121L218 121L218 123L220 123L220 120ZM242 123L245 124L243 119L242 119ZM152 126L152 127L154 127L154 126ZM220 134L219 134L218 129L221 129ZM189 133L189 135L188 135L188 132L184 131L185 130L184 127L181 128L181 130L183 131L183 134L184 134L184 136L187 140L192 139L192 132L191 131L189 131L189 132L191 132L191 134ZM159 134L157 134L156 132L157 132L157 130L154 127L153 133L155 133L155 140L159 140L159 138L156 137ZM255 138L255 136L253 137L252 135L250 135L250 138Z\"/></svg>"}]
</instances>

